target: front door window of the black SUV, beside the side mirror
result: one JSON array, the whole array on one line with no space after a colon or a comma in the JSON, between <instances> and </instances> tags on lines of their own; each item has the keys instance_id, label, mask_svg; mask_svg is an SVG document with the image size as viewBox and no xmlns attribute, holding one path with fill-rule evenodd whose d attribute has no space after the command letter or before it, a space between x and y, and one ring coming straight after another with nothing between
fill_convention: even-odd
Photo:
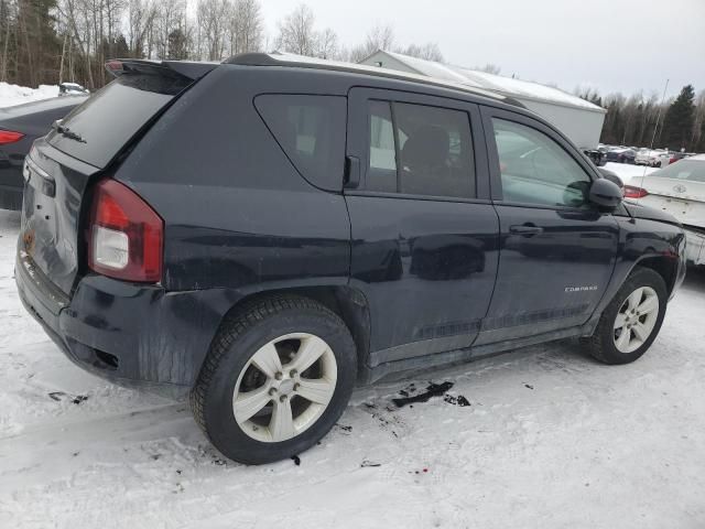
<instances>
[{"instance_id":1,"label":"front door window of the black SUV, beside the side mirror","mask_svg":"<svg viewBox=\"0 0 705 529\"><path fill-rule=\"evenodd\" d=\"M590 177L553 139L524 125L492 119L506 202L584 207Z\"/></svg>"}]
</instances>

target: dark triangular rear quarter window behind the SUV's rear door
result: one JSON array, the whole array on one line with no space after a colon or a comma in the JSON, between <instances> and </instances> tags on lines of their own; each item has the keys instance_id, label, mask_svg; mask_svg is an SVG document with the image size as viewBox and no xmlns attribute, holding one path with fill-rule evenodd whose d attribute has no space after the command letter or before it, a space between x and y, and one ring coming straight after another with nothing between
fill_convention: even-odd
<instances>
[{"instance_id":1,"label":"dark triangular rear quarter window behind the SUV's rear door","mask_svg":"<svg viewBox=\"0 0 705 529\"><path fill-rule=\"evenodd\" d=\"M346 98L265 94L254 106L296 170L312 184L343 188Z\"/></svg>"}]
</instances>

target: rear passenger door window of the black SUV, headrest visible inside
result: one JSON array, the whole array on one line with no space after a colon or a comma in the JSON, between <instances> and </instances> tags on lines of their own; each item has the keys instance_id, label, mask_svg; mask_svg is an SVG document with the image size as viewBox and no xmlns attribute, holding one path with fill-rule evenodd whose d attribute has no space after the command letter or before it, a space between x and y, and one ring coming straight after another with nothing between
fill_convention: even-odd
<instances>
[{"instance_id":1,"label":"rear passenger door window of the black SUV, headrest visible inside","mask_svg":"<svg viewBox=\"0 0 705 529\"><path fill-rule=\"evenodd\" d=\"M459 110L369 101L367 188L473 198L475 160L468 115Z\"/></svg>"}]
</instances>

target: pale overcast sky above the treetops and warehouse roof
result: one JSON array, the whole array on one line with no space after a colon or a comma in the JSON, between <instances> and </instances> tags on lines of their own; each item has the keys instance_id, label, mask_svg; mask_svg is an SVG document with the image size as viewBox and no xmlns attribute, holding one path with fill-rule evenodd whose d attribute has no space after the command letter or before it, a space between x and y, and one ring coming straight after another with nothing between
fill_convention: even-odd
<instances>
[{"instance_id":1,"label":"pale overcast sky above the treetops and warehouse roof","mask_svg":"<svg viewBox=\"0 0 705 529\"><path fill-rule=\"evenodd\" d=\"M270 47L300 2L262 0ZM705 89L705 0L307 0L348 47L389 24L397 44L438 43L448 63L601 94Z\"/></svg>"}]
</instances>

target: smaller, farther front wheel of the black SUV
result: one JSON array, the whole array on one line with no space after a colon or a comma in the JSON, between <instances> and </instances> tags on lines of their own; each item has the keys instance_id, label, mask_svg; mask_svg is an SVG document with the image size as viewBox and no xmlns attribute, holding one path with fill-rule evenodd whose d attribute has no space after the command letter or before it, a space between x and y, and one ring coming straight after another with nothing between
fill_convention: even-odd
<instances>
[{"instance_id":1,"label":"smaller, farther front wheel of the black SUV","mask_svg":"<svg viewBox=\"0 0 705 529\"><path fill-rule=\"evenodd\" d=\"M589 353L605 364L629 364L640 358L659 334L669 300L665 281L648 268L638 268L625 281L586 339Z\"/></svg>"}]
</instances>

